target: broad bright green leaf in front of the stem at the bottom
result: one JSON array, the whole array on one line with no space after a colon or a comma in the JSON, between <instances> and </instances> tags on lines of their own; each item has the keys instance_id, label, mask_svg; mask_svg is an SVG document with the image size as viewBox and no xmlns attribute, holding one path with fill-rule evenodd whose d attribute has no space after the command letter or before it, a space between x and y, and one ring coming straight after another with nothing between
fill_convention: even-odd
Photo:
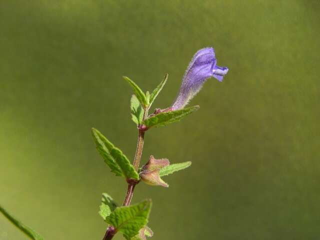
<instances>
[{"instance_id":1,"label":"broad bright green leaf in front of the stem at the bottom","mask_svg":"<svg viewBox=\"0 0 320 240\"><path fill-rule=\"evenodd\" d=\"M126 239L130 239L146 225L150 210L151 200L144 200L135 205L117 207L105 221L121 231Z\"/></svg>"}]
</instances>

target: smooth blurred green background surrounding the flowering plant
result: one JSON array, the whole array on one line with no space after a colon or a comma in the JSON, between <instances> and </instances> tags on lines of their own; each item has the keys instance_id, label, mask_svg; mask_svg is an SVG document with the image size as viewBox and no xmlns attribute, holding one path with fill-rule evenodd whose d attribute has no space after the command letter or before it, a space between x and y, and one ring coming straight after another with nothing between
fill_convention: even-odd
<instances>
[{"instance_id":1,"label":"smooth blurred green background surrounding the flowering plant","mask_svg":"<svg viewBox=\"0 0 320 240\"><path fill-rule=\"evenodd\" d=\"M192 166L139 184L152 239L319 239L318 0L0 0L0 203L46 239L101 239L101 192L126 183L95 150L98 128L128 157L137 132L127 75L169 106L199 48L229 67L150 154ZM0 215L0 239L25 239ZM122 239L118 234L114 239Z\"/></svg>"}]
</instances>

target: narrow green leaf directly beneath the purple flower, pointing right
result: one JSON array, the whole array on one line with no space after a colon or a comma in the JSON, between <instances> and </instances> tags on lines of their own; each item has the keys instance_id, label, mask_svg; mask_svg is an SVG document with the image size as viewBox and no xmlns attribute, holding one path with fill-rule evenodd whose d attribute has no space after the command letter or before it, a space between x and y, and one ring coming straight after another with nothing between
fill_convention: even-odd
<instances>
[{"instance_id":1,"label":"narrow green leaf directly beneath the purple flower, pointing right","mask_svg":"<svg viewBox=\"0 0 320 240\"><path fill-rule=\"evenodd\" d=\"M198 108L199 106L196 105L180 110L161 112L143 120L142 124L144 124L148 128L152 126L165 126L172 122L181 120L183 117L192 113L193 111L196 111Z\"/></svg>"}]
</instances>

